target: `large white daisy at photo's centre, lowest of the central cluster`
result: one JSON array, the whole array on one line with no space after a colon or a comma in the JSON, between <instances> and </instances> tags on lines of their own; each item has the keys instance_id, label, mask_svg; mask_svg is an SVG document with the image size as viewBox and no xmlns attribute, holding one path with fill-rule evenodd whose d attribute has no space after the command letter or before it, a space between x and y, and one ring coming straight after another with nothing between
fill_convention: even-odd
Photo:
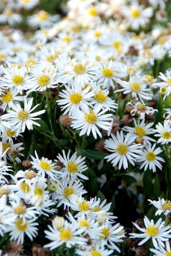
<instances>
[{"instance_id":1,"label":"large white daisy at photo's centre, lowest of the central cluster","mask_svg":"<svg viewBox=\"0 0 171 256\"><path fill-rule=\"evenodd\" d=\"M74 120L72 121L71 127L81 129L79 136L85 133L88 136L92 131L92 135L95 139L97 139L97 134L102 137L99 128L107 131L112 128L110 122L113 120L111 118L112 114L104 114L106 111L108 111L107 108L101 111L101 106L89 109L87 105L84 105L84 111L74 109L72 116L70 116Z\"/></svg>"}]
</instances>

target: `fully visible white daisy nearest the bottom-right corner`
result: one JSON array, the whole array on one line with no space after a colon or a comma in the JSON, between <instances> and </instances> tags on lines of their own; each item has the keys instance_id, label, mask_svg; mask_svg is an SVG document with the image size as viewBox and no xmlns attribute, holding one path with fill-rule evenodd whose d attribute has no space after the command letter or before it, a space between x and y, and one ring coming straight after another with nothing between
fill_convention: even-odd
<instances>
[{"instance_id":1,"label":"fully visible white daisy nearest the bottom-right corner","mask_svg":"<svg viewBox=\"0 0 171 256\"><path fill-rule=\"evenodd\" d=\"M152 239L153 246L158 249L159 245L164 247L164 241L168 241L171 238L171 227L165 226L165 221L162 221L160 218L156 224L154 220L149 220L146 216L144 218L145 228L140 228L136 223L134 226L141 231L142 233L131 233L130 238L142 238L142 241L138 245L142 245L147 242L149 239Z\"/></svg>"}]
</instances>

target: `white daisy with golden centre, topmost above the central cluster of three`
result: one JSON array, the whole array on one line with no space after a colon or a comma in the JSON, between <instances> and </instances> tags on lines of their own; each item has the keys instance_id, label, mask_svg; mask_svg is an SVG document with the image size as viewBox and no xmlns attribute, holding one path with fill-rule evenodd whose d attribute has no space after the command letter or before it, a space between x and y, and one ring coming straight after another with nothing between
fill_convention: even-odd
<instances>
[{"instance_id":1,"label":"white daisy with golden centre, topmost above the central cluster of three","mask_svg":"<svg viewBox=\"0 0 171 256\"><path fill-rule=\"evenodd\" d=\"M84 86L85 83L96 80L95 75L97 72L93 64L87 60L76 62L75 59L72 59L71 63L64 67L62 74L60 78L64 79L65 82L69 82L73 78L80 85Z\"/></svg>"}]
</instances>

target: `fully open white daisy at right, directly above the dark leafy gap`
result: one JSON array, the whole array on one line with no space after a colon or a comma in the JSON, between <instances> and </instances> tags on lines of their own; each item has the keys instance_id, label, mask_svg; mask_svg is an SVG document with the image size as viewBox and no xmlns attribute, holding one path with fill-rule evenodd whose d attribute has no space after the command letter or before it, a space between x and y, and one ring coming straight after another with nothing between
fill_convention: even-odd
<instances>
[{"instance_id":1,"label":"fully open white daisy at right, directly above the dark leafy gap","mask_svg":"<svg viewBox=\"0 0 171 256\"><path fill-rule=\"evenodd\" d=\"M134 144L136 136L132 135L132 133L126 134L125 138L123 132L120 134L117 132L117 136L111 134L112 138L109 140L105 140L105 148L113 152L109 156L105 156L107 162L111 161L112 165L115 166L119 163L118 169L120 169L123 165L124 169L128 168L128 161L135 165L134 162L139 158L138 155L141 154L142 145Z\"/></svg>"}]
</instances>

